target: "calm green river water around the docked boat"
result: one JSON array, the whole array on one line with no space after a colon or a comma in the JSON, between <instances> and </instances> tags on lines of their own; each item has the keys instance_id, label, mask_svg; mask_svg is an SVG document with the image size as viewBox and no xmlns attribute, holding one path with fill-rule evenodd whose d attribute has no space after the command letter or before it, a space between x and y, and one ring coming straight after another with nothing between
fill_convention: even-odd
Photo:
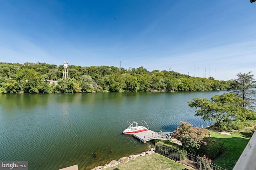
<instances>
[{"instance_id":1,"label":"calm green river water around the docked boat","mask_svg":"<svg viewBox=\"0 0 256 170\"><path fill-rule=\"evenodd\" d=\"M187 102L225 92L0 94L0 160L28 160L29 170L92 169L148 149L122 134L127 121L168 132L180 121L207 126Z\"/></svg>"}]
</instances>

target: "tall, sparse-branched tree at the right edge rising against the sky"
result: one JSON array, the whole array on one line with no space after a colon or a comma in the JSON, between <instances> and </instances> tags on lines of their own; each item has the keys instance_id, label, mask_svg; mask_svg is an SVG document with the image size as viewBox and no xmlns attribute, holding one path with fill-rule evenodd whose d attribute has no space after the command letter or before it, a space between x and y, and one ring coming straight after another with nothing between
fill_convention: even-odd
<instances>
[{"instance_id":1,"label":"tall, sparse-branched tree at the right edge rising against the sky","mask_svg":"<svg viewBox=\"0 0 256 170\"><path fill-rule=\"evenodd\" d=\"M242 107L255 107L256 105L256 90L252 90L256 81L252 72L238 73L237 78L230 83L229 91L242 98Z\"/></svg>"}]
</instances>

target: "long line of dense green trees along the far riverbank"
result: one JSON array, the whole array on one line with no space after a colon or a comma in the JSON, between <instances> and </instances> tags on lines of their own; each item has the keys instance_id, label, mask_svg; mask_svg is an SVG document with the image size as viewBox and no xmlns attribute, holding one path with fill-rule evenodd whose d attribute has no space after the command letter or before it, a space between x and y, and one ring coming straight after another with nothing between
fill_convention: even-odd
<instances>
[{"instance_id":1,"label":"long line of dense green trees along the far riverbank","mask_svg":"<svg viewBox=\"0 0 256 170\"><path fill-rule=\"evenodd\" d=\"M68 79L62 79L63 65L47 63L0 62L0 93L150 92L228 90L231 81L200 78L174 71L148 71L114 66L68 66ZM57 80L49 86L47 80Z\"/></svg>"}]
</instances>

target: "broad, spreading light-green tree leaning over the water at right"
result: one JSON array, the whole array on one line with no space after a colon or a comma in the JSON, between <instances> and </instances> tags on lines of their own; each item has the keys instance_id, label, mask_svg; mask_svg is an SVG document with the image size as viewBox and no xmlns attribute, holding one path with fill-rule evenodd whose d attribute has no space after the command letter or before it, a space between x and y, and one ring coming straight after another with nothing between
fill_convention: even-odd
<instances>
[{"instance_id":1,"label":"broad, spreading light-green tree leaning over the water at right","mask_svg":"<svg viewBox=\"0 0 256 170\"><path fill-rule=\"evenodd\" d=\"M216 121L217 127L224 119L235 118L243 111L240 106L242 100L231 93L215 95L211 101L207 98L194 98L193 100L188 101L188 106L199 108L195 116L202 116L204 121Z\"/></svg>"}]
</instances>

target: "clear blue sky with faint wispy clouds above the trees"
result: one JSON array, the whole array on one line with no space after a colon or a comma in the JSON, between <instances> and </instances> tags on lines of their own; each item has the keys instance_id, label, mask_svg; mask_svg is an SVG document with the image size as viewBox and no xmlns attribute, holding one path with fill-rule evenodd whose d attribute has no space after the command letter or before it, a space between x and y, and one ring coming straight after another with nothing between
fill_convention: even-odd
<instances>
[{"instance_id":1,"label":"clear blue sky with faint wispy clouds above the trees","mask_svg":"<svg viewBox=\"0 0 256 170\"><path fill-rule=\"evenodd\" d=\"M0 61L256 74L250 0L4 0Z\"/></svg>"}]
</instances>

